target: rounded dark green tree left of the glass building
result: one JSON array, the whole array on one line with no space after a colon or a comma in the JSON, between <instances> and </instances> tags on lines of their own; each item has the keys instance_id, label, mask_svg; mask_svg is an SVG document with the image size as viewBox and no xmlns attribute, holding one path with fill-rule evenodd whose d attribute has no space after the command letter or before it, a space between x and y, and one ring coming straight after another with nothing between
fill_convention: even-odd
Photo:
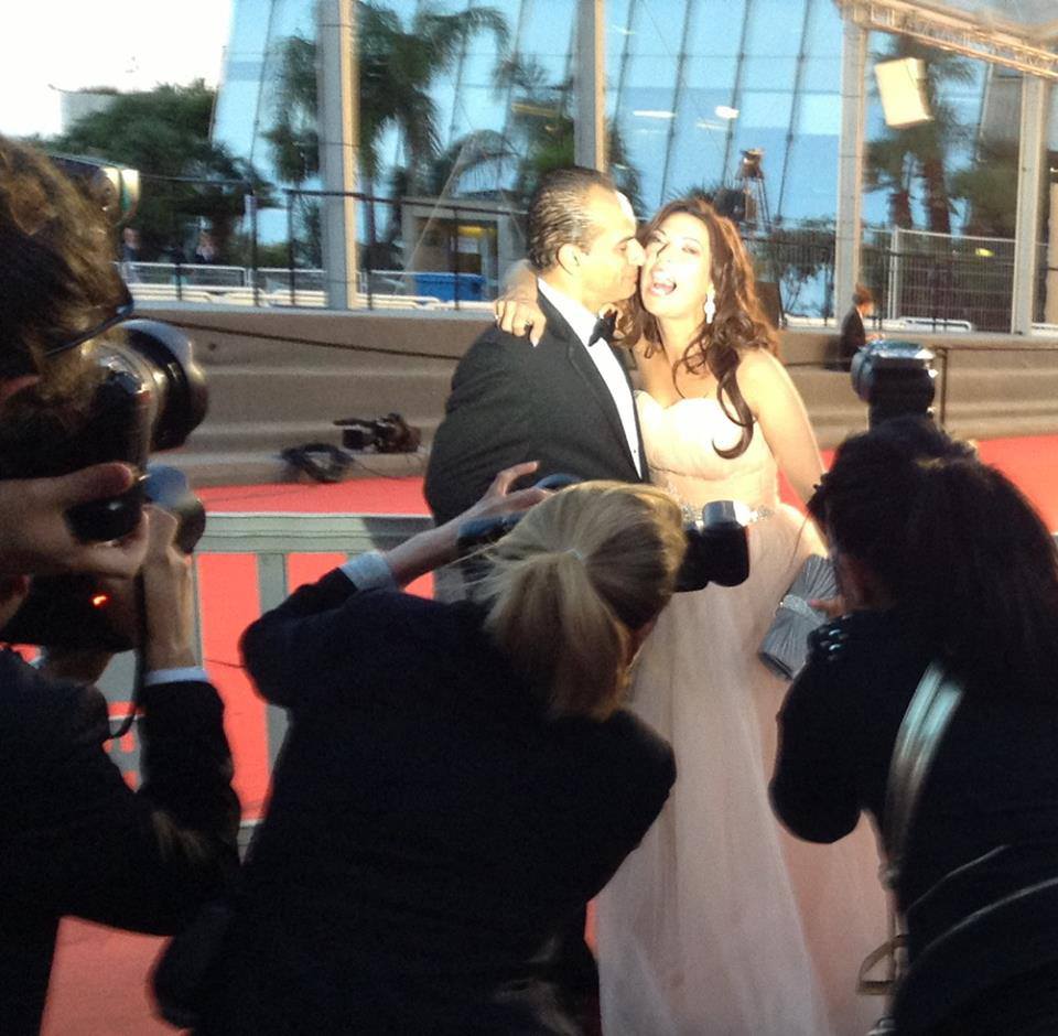
<instances>
[{"instance_id":1,"label":"rounded dark green tree left of the glass building","mask_svg":"<svg viewBox=\"0 0 1058 1036\"><path fill-rule=\"evenodd\" d=\"M140 171L143 182L133 225L140 229L141 259L168 259L174 247L193 247L199 225L213 231L226 256L233 248L236 220L244 213L245 190L151 179L251 179L244 163L209 140L214 99L214 90L201 79L187 86L118 94L109 108L78 119L68 132L44 145Z\"/></svg>"}]
</instances>

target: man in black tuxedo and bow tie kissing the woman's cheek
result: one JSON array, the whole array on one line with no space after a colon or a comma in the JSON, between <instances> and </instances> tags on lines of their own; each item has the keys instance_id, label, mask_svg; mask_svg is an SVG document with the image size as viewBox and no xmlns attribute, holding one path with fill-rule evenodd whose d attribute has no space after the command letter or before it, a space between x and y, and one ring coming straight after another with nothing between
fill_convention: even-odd
<instances>
[{"instance_id":1,"label":"man in black tuxedo and bow tie kissing the woman's cheek","mask_svg":"<svg viewBox=\"0 0 1058 1036\"><path fill-rule=\"evenodd\" d=\"M549 173L529 204L527 252L547 330L533 344L489 328L456 367L427 470L439 522L521 461L540 462L538 478L647 476L628 375L600 320L643 265L628 199L595 170Z\"/></svg>"}]
</instances>

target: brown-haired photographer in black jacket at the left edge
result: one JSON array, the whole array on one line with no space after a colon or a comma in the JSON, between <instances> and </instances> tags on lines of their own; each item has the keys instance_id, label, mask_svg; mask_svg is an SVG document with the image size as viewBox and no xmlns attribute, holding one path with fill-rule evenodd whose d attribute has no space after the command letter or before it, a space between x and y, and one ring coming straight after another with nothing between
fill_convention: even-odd
<instances>
[{"instance_id":1,"label":"brown-haired photographer in black jacket at the left edge","mask_svg":"<svg viewBox=\"0 0 1058 1036\"><path fill-rule=\"evenodd\" d=\"M44 157L0 138L0 430L57 408L76 435L97 375L93 339L127 299L101 213ZM69 343L83 344L65 348ZM48 356L48 354L52 354ZM55 478L0 481L0 625L29 576L111 578L147 667L136 791L104 748L107 704L86 678L98 652L55 655L63 678L0 652L0 1033L41 1024L60 918L175 931L237 866L238 801L223 706L195 663L188 559L176 519L149 508L117 543L83 543L68 508L128 487L99 464Z\"/></svg>"}]
</instances>

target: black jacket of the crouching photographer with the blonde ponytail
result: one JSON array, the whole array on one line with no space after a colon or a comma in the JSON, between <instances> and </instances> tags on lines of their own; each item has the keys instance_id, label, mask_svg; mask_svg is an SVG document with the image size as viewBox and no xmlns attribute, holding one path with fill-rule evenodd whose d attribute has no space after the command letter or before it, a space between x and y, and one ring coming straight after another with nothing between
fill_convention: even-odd
<instances>
[{"instance_id":1,"label":"black jacket of the crouching photographer with the blonde ponytail","mask_svg":"<svg viewBox=\"0 0 1058 1036\"><path fill-rule=\"evenodd\" d=\"M579 1032L561 935L672 752L625 711L548 722L482 618L334 571L247 630L291 729L201 1034Z\"/></svg>"}]
</instances>

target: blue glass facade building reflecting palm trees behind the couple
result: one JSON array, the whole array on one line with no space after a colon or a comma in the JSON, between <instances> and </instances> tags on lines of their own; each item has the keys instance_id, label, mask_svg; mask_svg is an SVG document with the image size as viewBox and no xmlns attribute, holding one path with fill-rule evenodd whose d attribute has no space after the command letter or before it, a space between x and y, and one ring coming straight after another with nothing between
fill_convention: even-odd
<instances>
[{"instance_id":1,"label":"blue glass facade building reflecting palm trees behind the couple","mask_svg":"<svg viewBox=\"0 0 1058 1036\"><path fill-rule=\"evenodd\" d=\"M541 171L573 160L576 0L373 0L355 8L361 154L374 155L370 169L361 162L359 186L406 202L360 209L371 266L476 271L486 290L495 287L519 246L517 218L505 230L490 213L517 213ZM828 234L832 240L838 211L839 6L607 0L603 11L609 162L637 212L647 215L690 191L745 192L748 236L758 246L769 239L769 261L776 241L785 249L773 279L788 311L819 317L840 310L825 262L812 258ZM273 182L307 191L320 185L314 164L307 161L292 180L280 172L290 169L290 157L284 165L277 145L277 127L293 104L284 66L291 39L314 43L313 0L235 0L214 136ZM870 34L867 48L865 248L888 253L894 241L897 251L914 242L926 253L935 246L907 235L935 235L958 262L1007 263L1008 281L1013 260L1001 242L1014 236L1022 74L883 32ZM871 67L907 55L925 61L932 121L893 129ZM382 91L373 76L386 80ZM311 121L312 112L299 118ZM1054 96L1045 136L1043 160L1058 165ZM756 157L749 179L746 153ZM1040 242L1048 233L1045 194ZM474 202L482 206L476 215L468 208ZM456 211L445 216L453 203ZM278 212L263 214L261 228L273 239L289 228L300 238L311 231L302 216ZM952 238L965 238L965 247L951 246ZM764 251L755 250L758 262ZM311 249L305 256L312 265ZM863 262L883 294L897 284L890 267L888 258ZM990 277L1002 295L1003 278ZM951 298L947 304L964 309ZM890 316L898 310L883 306ZM1007 315L992 320L996 330L1008 312L1007 304ZM971 323L985 326L990 317L978 313Z\"/></svg>"}]
</instances>

